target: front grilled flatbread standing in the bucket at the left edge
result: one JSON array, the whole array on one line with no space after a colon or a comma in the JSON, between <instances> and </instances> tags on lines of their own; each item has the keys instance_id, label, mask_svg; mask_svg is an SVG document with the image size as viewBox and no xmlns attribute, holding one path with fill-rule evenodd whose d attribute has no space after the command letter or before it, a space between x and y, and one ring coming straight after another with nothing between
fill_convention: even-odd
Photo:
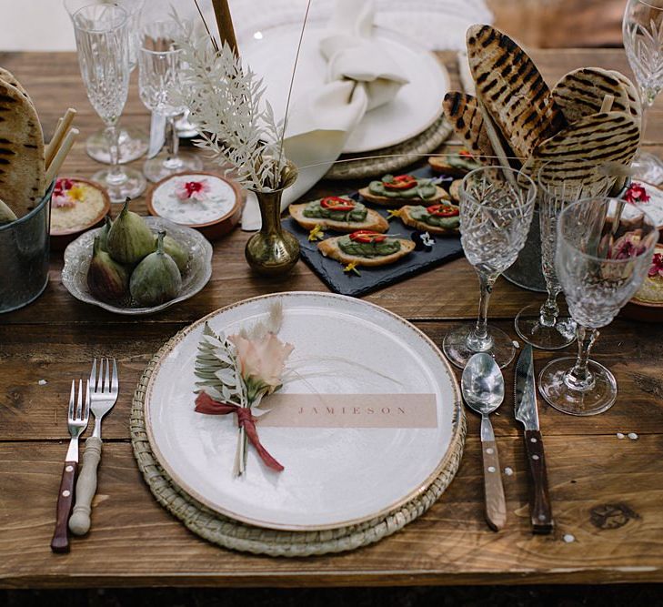
<instances>
[{"instance_id":1,"label":"front grilled flatbread standing in the bucket at the left edge","mask_svg":"<svg viewBox=\"0 0 663 607\"><path fill-rule=\"evenodd\" d=\"M0 82L0 198L22 218L45 189L44 135L35 107Z\"/></svg>"}]
</instances>

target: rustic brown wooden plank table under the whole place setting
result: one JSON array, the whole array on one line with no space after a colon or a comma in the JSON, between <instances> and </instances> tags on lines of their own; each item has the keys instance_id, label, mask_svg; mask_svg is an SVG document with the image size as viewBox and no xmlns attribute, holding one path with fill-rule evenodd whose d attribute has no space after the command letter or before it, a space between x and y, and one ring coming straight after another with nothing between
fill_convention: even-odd
<instances>
[{"instance_id":1,"label":"rustic brown wooden plank table under the whole place setting","mask_svg":"<svg viewBox=\"0 0 663 607\"><path fill-rule=\"evenodd\" d=\"M618 50L532 53L551 83L579 66L628 71ZM457 83L454 56L440 56ZM73 54L0 54L28 89L45 133L77 107L86 137L100 126L85 97ZM647 146L663 151L662 104L648 120ZM136 76L123 116L147 129ZM135 164L140 167L140 162ZM83 145L63 174L89 177L98 165ZM323 184L350 191L356 183ZM143 202L137 210L146 212ZM136 209L135 209L136 210ZM663 582L663 329L617 319L602 331L595 357L618 379L613 409L575 419L539 403L557 529L534 537L527 506L527 468L521 430L507 406L495 416L508 521L494 533L483 518L478 420L467 415L465 458L457 478L426 515L404 531L359 551L302 560L224 551L186 531L146 488L129 441L129 408L136 381L156 350L193 320L251 296L325 285L297 265L286 281L256 278L244 260L247 235L237 230L215 245L214 274L195 298L145 319L113 316L72 298L60 282L62 255L53 254L45 294L0 317L0 585L73 587L114 585L415 585L488 583ZM1 260L0 260L1 262ZM0 270L1 271L1 270ZM474 318L477 278L465 259L367 296L412 320L438 344L458 320ZM491 319L511 335L517 311L541 297L500 279ZM571 351L571 350L569 350ZM65 456L66 402L72 378L93 357L115 356L121 393L106 418L100 484L88 537L68 555L49 541ZM541 369L558 353L537 352ZM45 385L39 380L45 379ZM513 366L506 371L512 384ZM618 440L636 432L638 440ZM567 541L573 536L574 541ZM565 540L566 538L566 540Z\"/></svg>"}]
</instances>

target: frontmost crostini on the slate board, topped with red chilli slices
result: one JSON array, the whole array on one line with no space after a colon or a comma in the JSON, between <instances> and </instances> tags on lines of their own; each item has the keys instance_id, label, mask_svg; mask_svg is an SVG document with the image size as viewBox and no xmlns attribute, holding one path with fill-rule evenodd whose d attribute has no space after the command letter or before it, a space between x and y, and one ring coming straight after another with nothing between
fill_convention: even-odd
<instances>
[{"instance_id":1,"label":"frontmost crostini on the slate board, topped with red chilli slices","mask_svg":"<svg viewBox=\"0 0 663 607\"><path fill-rule=\"evenodd\" d=\"M317 245L327 258L357 266L386 266L405 257L415 248L406 238L393 238L373 230L360 229L346 236L326 238Z\"/></svg>"}]
</instances>

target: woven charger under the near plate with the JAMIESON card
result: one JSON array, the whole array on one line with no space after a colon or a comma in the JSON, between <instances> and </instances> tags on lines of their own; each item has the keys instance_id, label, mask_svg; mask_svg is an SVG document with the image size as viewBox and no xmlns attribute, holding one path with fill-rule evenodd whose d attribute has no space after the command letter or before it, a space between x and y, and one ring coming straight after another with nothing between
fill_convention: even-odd
<instances>
[{"instance_id":1,"label":"woven charger under the near plate with the JAMIESON card","mask_svg":"<svg viewBox=\"0 0 663 607\"><path fill-rule=\"evenodd\" d=\"M189 531L224 548L269 556L312 556L355 550L381 540L405 527L430 508L444 493L458 470L465 444L465 413L459 408L454 420L442 472L416 498L387 516L359 525L328 531L276 531L254 527L210 511L179 488L159 465L147 440L145 420L146 388L159 360L173 347L175 336L156 352L138 380L131 408L130 433L134 456L147 486L167 511L184 522Z\"/></svg>"}]
</instances>

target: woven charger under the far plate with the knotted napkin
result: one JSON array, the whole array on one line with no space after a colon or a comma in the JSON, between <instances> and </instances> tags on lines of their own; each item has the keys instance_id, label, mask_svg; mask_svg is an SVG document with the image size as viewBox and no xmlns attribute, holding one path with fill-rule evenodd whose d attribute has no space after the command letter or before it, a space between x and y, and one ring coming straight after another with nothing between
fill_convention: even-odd
<instances>
[{"instance_id":1,"label":"woven charger under the far plate with the knotted napkin","mask_svg":"<svg viewBox=\"0 0 663 607\"><path fill-rule=\"evenodd\" d=\"M344 154L341 161L326 172L326 179L363 179L382 177L417 162L422 154L430 154L440 147L453 132L453 127L444 116L440 116L417 137L412 137L397 146L383 147L363 154Z\"/></svg>"}]
</instances>

